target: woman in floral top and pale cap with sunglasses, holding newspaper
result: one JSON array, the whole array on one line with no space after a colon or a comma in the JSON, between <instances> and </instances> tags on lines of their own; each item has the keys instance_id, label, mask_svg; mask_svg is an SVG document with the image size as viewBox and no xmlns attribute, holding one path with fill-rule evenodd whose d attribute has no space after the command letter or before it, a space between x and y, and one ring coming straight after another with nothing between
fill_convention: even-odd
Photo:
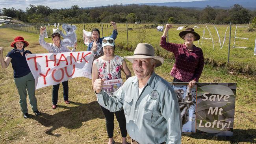
<instances>
[{"instance_id":1,"label":"woman in floral top and pale cap with sunglasses, holding newspaper","mask_svg":"<svg viewBox=\"0 0 256 144\"><path fill-rule=\"evenodd\" d=\"M126 79L131 76L131 72L123 57L114 55L115 42L111 37L106 37L102 40L104 55L93 61L92 69L92 84L94 85L95 79L121 79L121 70L125 73ZM108 109L100 106L104 116L106 118L106 127L108 132L109 141L108 144L114 144L113 131L114 131L114 112L110 112ZM126 121L124 111L115 112L117 121L122 134L122 144L126 144Z\"/></svg>"}]
</instances>

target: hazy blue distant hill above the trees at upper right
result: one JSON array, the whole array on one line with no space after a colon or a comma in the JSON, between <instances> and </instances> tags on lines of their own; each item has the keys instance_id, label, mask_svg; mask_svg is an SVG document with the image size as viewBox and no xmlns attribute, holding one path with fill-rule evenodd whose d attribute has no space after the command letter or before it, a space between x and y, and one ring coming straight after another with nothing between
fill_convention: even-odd
<instances>
[{"instance_id":1,"label":"hazy blue distant hill above the trees at upper right","mask_svg":"<svg viewBox=\"0 0 256 144\"><path fill-rule=\"evenodd\" d=\"M230 9L230 7L234 6L234 4L239 4L250 10L256 10L256 0L203 0L203 1L193 1L193 2L147 3L147 4L139 4L139 5L187 7L192 9L203 9L208 5L218 9Z\"/></svg>"}]
</instances>

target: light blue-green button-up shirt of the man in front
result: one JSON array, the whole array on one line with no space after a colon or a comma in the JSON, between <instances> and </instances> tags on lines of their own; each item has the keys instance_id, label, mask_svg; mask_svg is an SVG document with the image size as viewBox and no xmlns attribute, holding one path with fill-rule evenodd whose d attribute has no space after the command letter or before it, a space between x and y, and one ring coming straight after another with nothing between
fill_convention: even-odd
<instances>
[{"instance_id":1,"label":"light blue-green button-up shirt of the man in front","mask_svg":"<svg viewBox=\"0 0 256 144\"><path fill-rule=\"evenodd\" d=\"M171 85L153 72L139 95L136 76L126 80L113 96L102 90L98 103L109 111L124 109L126 129L140 144L180 144L182 122Z\"/></svg>"}]
</instances>

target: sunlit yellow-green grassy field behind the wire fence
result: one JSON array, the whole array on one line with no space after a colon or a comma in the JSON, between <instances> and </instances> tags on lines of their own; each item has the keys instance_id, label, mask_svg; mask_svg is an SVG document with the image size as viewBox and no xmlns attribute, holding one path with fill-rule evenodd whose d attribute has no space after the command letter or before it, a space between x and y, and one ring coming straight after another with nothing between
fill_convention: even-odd
<instances>
[{"instance_id":1,"label":"sunlit yellow-green grassy field behind the wire fence","mask_svg":"<svg viewBox=\"0 0 256 144\"><path fill-rule=\"evenodd\" d=\"M91 31L93 28L98 28L100 30L100 36L102 37L102 27L103 27L103 34L104 36L109 36L112 33L113 27L110 26L110 24L72 24L77 26L76 34L78 36L78 41L83 42L83 34L82 29L85 29L86 31ZM152 24L128 24L128 28L131 28L132 30L128 30L128 42L129 46L135 48L137 43L143 43L147 42L155 47L158 47L162 55L165 55L167 52L163 50L159 46L160 37L162 35L162 32L156 31L156 28L151 28ZM164 26L164 24L158 24ZM178 33L180 33L180 30L176 30L178 26L186 26L186 25L173 25L173 29L169 30L169 42L173 43L183 43L184 40L180 39L178 36ZM194 27L195 25L189 25L188 27ZM202 48L204 52L204 57L210 59L211 61L216 61L218 65L226 64L228 60L228 39L229 39L229 25L216 25L216 28L219 32L219 37L217 35L217 31L215 30L214 26L212 24L209 25L197 25L198 28L195 28L195 31L200 34L200 36L203 36L203 31L205 29L205 38L213 38L213 42L211 39L200 39L198 42L194 42L196 46L199 46ZM207 30L208 27L209 31ZM231 31L231 41L230 41L230 65L235 65L230 68L230 70L239 70L239 68L243 68L245 70L239 70L241 73L244 71L250 71L255 73L256 72L256 56L254 56L254 46L255 46L255 39L256 39L256 31L248 32L247 28L237 28L236 37L245 37L249 38L247 39L236 39L235 46L242 46L247 48L233 48L234 46L234 36L235 36L235 30L237 25L232 25L232 31ZM238 26L249 26L248 24L245 25L238 25ZM228 30L226 31L228 27ZM53 25L48 27L46 25L47 32L52 33L52 28L55 28ZM118 39L117 43L123 43L124 45L127 44L127 33L126 33L126 24L117 24L118 28ZM22 27L23 31L33 31L34 33L38 33L38 31L35 30L35 27L28 26L28 27ZM62 27L60 27L60 30L62 30ZM226 31L226 39L224 41ZM224 41L224 44L223 44ZM223 44L223 48L220 46ZM214 46L214 49L213 49ZM236 68L239 67L239 68ZM249 70L248 70L249 69Z\"/></svg>"}]
</instances>

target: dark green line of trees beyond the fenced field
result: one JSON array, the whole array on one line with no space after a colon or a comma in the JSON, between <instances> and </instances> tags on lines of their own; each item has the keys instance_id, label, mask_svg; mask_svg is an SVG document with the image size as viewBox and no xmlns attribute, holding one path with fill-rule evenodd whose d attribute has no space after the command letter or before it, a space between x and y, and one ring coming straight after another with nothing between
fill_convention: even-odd
<instances>
[{"instance_id":1,"label":"dark green line of trees beyond the fenced field","mask_svg":"<svg viewBox=\"0 0 256 144\"><path fill-rule=\"evenodd\" d=\"M204 9L181 7L117 5L82 8L77 5L70 9L50 9L48 6L30 4L26 11L15 8L0 9L0 15L17 18L29 23L228 23L245 24L255 19L256 10L251 11L238 4L230 9Z\"/></svg>"}]
</instances>

